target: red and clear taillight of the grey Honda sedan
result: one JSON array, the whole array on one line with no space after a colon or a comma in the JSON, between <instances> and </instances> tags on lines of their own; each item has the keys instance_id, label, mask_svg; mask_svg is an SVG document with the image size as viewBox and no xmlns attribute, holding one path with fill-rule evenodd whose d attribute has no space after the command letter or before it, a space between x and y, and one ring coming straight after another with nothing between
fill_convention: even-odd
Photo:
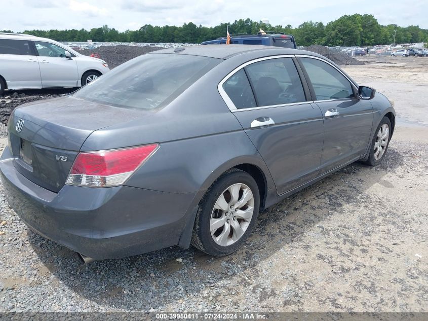
<instances>
[{"instance_id":1,"label":"red and clear taillight of the grey Honda sedan","mask_svg":"<svg viewBox=\"0 0 428 321\"><path fill-rule=\"evenodd\" d=\"M151 144L79 153L65 184L93 187L121 185L158 147L158 144Z\"/></svg>"}]
</instances>

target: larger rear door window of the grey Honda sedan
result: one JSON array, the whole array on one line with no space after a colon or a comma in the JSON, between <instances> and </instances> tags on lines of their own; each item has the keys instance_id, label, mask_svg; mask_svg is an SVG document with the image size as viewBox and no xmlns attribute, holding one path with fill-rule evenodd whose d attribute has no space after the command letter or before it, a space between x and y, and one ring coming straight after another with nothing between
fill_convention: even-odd
<instances>
[{"instance_id":1,"label":"larger rear door window of the grey Honda sedan","mask_svg":"<svg viewBox=\"0 0 428 321\"><path fill-rule=\"evenodd\" d=\"M291 58L255 62L246 67L258 106L306 101L303 86Z\"/></svg>"}]
</instances>

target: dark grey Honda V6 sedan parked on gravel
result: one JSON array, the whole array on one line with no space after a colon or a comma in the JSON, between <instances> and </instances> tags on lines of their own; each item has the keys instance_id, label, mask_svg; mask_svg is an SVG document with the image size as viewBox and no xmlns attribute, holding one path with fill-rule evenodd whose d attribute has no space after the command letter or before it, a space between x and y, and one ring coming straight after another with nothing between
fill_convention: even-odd
<instances>
[{"instance_id":1,"label":"dark grey Honda V6 sedan parked on gravel","mask_svg":"<svg viewBox=\"0 0 428 321\"><path fill-rule=\"evenodd\" d=\"M190 244L223 256L260 210L379 164L394 125L385 96L318 54L166 49L19 106L0 170L22 221L87 260Z\"/></svg>"}]
</instances>

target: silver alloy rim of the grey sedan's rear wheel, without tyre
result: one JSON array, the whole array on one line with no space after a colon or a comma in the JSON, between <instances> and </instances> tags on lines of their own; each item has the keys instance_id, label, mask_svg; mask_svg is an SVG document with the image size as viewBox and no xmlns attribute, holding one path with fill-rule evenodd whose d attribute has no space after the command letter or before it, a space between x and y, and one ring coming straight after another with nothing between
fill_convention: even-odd
<instances>
[{"instance_id":1,"label":"silver alloy rim of the grey sedan's rear wheel, without tyre","mask_svg":"<svg viewBox=\"0 0 428 321\"><path fill-rule=\"evenodd\" d=\"M254 196L245 184L234 184L220 194L211 213L211 236L218 245L228 246L244 235L254 213Z\"/></svg>"}]
</instances>

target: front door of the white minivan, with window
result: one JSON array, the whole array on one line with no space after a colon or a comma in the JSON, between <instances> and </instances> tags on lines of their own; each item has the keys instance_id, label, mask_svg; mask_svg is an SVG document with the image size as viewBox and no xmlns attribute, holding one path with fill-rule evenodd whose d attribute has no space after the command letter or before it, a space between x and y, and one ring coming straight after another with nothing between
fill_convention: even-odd
<instances>
[{"instance_id":1,"label":"front door of the white minivan, with window","mask_svg":"<svg viewBox=\"0 0 428 321\"><path fill-rule=\"evenodd\" d=\"M34 41L34 45L38 53L43 88L77 87L79 73L73 54L68 59L64 48L49 42Z\"/></svg>"}]
</instances>

